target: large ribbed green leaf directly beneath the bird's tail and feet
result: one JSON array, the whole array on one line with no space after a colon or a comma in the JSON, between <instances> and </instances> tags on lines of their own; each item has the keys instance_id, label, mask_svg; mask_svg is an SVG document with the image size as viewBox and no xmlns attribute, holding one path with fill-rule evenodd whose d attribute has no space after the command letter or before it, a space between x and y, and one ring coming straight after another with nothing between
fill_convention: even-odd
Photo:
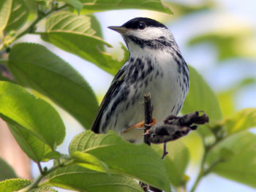
<instances>
[{"instance_id":1,"label":"large ribbed green leaf directly beneath the bird's tail and feet","mask_svg":"<svg viewBox=\"0 0 256 192\"><path fill-rule=\"evenodd\" d=\"M165 166L157 153L148 145L134 145L118 137L113 131L94 134L86 131L75 137L69 145L69 153L83 151L96 156L108 165L110 172L125 174L170 191Z\"/></svg>"}]
</instances>

